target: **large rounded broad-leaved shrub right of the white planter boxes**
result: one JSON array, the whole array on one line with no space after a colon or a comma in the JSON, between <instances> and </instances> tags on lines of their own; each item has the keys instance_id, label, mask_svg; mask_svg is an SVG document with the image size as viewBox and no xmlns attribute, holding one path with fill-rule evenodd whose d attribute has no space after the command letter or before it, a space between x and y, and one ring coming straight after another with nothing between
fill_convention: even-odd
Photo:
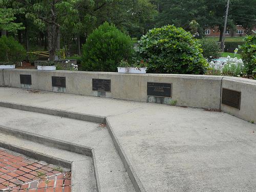
<instances>
[{"instance_id":1,"label":"large rounded broad-leaved shrub right of the white planter boxes","mask_svg":"<svg viewBox=\"0 0 256 192\"><path fill-rule=\"evenodd\" d=\"M175 26L150 30L141 37L136 53L147 61L147 73L204 74L207 66L197 40Z\"/></svg>"}]
</instances>

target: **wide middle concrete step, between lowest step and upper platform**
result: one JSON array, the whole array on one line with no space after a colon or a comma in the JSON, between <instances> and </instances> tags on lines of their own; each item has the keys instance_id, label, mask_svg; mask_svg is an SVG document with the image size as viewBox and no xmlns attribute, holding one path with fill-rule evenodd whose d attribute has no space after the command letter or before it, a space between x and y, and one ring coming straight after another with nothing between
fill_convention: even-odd
<instances>
[{"instance_id":1,"label":"wide middle concrete step, between lowest step and upper platform","mask_svg":"<svg viewBox=\"0 0 256 192\"><path fill-rule=\"evenodd\" d=\"M94 149L101 191L135 191L106 127L76 119L0 107L0 126Z\"/></svg>"}]
</instances>

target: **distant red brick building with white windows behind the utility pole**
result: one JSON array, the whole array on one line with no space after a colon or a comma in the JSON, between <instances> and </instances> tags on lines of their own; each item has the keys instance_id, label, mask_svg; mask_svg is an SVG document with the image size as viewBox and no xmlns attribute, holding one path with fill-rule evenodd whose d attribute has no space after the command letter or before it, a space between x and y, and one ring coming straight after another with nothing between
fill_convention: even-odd
<instances>
[{"instance_id":1,"label":"distant red brick building with white windows behind the utility pole","mask_svg":"<svg viewBox=\"0 0 256 192\"><path fill-rule=\"evenodd\" d=\"M204 34L207 37L219 37L220 31L219 27L215 27L214 29L208 28L205 29ZM226 30L226 37L241 37L246 35L246 30L242 26L236 26L236 30Z\"/></svg>"}]
</instances>

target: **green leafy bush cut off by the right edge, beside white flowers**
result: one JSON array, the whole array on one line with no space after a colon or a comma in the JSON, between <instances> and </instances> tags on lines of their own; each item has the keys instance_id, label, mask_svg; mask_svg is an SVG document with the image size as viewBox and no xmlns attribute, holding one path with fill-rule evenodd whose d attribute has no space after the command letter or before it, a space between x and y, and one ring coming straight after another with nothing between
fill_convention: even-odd
<instances>
[{"instance_id":1,"label":"green leafy bush cut off by the right edge, beside white flowers","mask_svg":"<svg viewBox=\"0 0 256 192\"><path fill-rule=\"evenodd\" d=\"M242 60L245 65L246 75L256 76L256 35L246 36L245 44L239 48L242 50Z\"/></svg>"}]
</instances>

